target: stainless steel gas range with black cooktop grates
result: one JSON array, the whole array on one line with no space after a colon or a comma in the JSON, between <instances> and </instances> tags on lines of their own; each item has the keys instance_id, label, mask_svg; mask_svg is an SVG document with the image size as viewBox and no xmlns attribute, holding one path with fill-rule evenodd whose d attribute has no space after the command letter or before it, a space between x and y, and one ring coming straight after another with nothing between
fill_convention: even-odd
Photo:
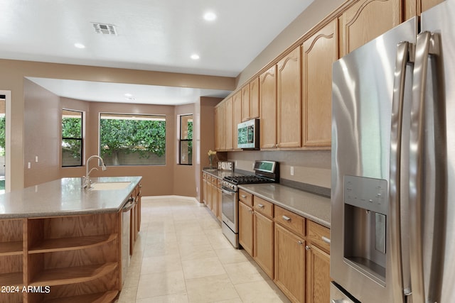
<instances>
[{"instance_id":1,"label":"stainless steel gas range with black cooktop grates","mask_svg":"<svg viewBox=\"0 0 455 303\"><path fill-rule=\"evenodd\" d=\"M232 246L239 247L238 187L239 184L279 182L279 163L276 161L255 161L255 175L224 177L221 191L221 229Z\"/></svg>"}]
</instances>

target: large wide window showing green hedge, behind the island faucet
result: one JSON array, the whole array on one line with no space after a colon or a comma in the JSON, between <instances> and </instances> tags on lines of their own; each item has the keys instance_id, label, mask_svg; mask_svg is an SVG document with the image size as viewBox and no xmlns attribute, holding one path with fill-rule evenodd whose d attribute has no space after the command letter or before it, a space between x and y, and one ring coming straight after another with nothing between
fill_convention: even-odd
<instances>
[{"instance_id":1,"label":"large wide window showing green hedge, behind the island faucet","mask_svg":"<svg viewBox=\"0 0 455 303\"><path fill-rule=\"evenodd\" d=\"M100 114L105 165L166 165L166 116Z\"/></svg>"}]
</instances>

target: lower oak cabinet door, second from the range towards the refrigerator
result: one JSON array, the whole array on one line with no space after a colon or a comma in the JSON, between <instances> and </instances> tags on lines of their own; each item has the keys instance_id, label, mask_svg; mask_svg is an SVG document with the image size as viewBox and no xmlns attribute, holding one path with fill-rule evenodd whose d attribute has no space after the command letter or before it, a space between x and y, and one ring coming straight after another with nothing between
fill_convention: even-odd
<instances>
[{"instance_id":1,"label":"lower oak cabinet door, second from the range towards the refrigerator","mask_svg":"<svg viewBox=\"0 0 455 303\"><path fill-rule=\"evenodd\" d=\"M254 255L256 263L271 278L274 278L274 223L255 212Z\"/></svg>"}]
</instances>

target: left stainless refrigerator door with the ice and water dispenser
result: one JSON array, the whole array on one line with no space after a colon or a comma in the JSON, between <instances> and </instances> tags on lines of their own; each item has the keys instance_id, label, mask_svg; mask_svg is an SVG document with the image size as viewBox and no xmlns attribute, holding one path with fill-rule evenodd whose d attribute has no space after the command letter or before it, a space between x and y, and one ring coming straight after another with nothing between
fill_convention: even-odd
<instances>
[{"instance_id":1,"label":"left stainless refrigerator door with the ice and water dispenser","mask_svg":"<svg viewBox=\"0 0 455 303\"><path fill-rule=\"evenodd\" d=\"M400 173L390 179L392 99L400 95L394 92L397 48L415 43L416 25L415 18L402 23L333 64L331 277L360 302L402 302L410 284L409 265L400 264L407 245L392 245L395 207L389 202L395 197L389 192L400 182ZM403 112L412 95L412 65L404 66ZM392 164L400 169L397 157ZM400 224L395 228L393 236ZM400 255L392 258L392 248Z\"/></svg>"}]
</instances>

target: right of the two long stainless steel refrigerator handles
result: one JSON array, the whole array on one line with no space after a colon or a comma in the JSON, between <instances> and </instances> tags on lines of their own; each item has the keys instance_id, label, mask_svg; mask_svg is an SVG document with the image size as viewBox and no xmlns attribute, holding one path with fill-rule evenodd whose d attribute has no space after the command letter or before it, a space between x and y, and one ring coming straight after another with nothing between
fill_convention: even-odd
<instances>
[{"instance_id":1,"label":"right of the two long stainless steel refrigerator handles","mask_svg":"<svg viewBox=\"0 0 455 303\"><path fill-rule=\"evenodd\" d=\"M409 172L410 271L413 303L425 302L422 240L425 88L427 87L429 55L437 53L438 47L437 37L432 35L432 33L425 31L417 35L412 76Z\"/></svg>"}]
</instances>

